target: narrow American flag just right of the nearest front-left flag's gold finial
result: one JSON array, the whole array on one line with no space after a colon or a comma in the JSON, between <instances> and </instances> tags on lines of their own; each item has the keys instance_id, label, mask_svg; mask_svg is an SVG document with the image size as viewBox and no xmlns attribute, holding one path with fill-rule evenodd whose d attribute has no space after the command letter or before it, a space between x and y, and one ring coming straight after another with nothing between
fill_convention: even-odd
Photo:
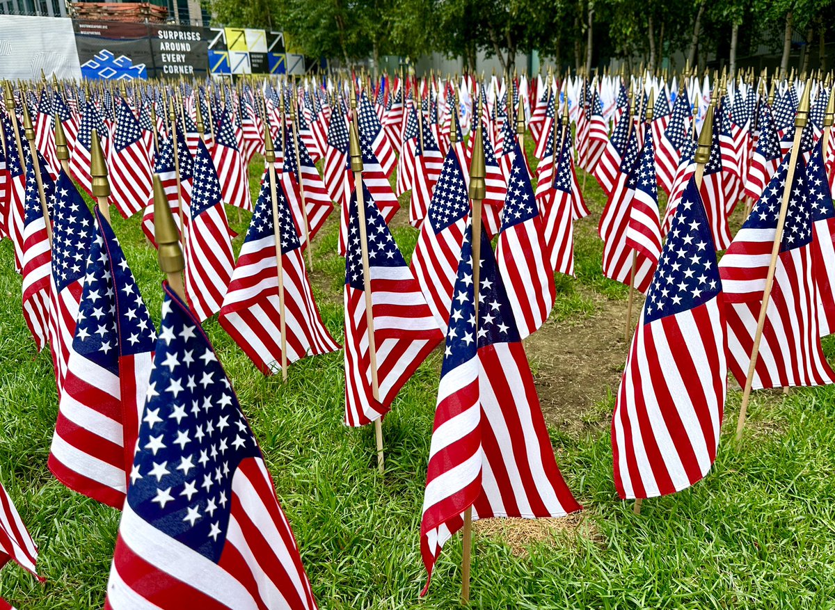
<instances>
[{"instance_id":1,"label":"narrow American flag just right of the nearest front-left flag's gold finial","mask_svg":"<svg viewBox=\"0 0 835 610\"><path fill-rule=\"evenodd\" d=\"M200 140L185 240L185 293L200 320L220 311L235 269L229 221L220 192L215 165Z\"/></svg>"}]
</instances>

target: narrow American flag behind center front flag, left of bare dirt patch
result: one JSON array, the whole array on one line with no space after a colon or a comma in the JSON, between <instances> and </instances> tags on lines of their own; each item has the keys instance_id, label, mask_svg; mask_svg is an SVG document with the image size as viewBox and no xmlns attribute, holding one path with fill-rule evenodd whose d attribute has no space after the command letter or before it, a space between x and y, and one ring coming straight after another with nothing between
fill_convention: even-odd
<instances>
[{"instance_id":1,"label":"narrow American flag behind center front flag, left of bare dirt patch","mask_svg":"<svg viewBox=\"0 0 835 610\"><path fill-rule=\"evenodd\" d=\"M545 245L544 225L530 184L528 162L515 138L513 154L496 260L498 272L509 286L508 299L519 337L524 339L548 320L556 291L554 267Z\"/></svg>"}]
</instances>

